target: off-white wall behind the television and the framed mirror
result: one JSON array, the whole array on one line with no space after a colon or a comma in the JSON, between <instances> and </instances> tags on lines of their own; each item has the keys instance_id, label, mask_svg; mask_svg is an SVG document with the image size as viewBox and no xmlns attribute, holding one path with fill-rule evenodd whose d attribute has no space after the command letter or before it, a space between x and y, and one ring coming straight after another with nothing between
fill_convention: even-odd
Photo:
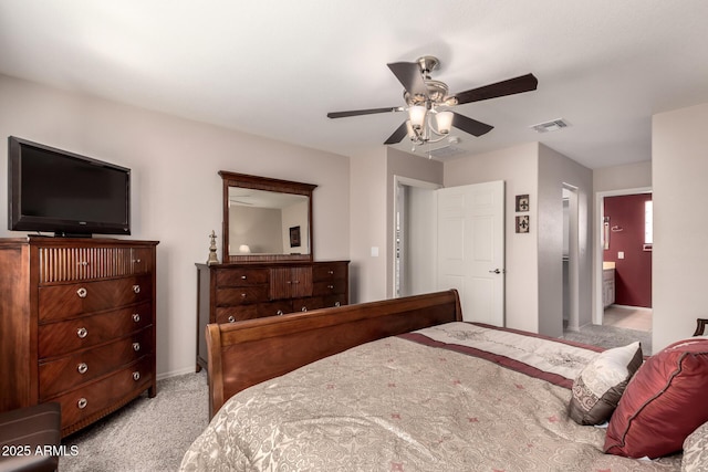
<instances>
[{"instance_id":1,"label":"off-white wall behind the television and the framed mirror","mask_svg":"<svg viewBox=\"0 0 708 472\"><path fill-rule=\"evenodd\" d=\"M221 233L218 170L316 183L314 256L350 256L346 157L2 75L0 104L2 139L13 135L132 169L131 238L160 241L157 247L159 376L189 371L195 366L194 264L207 260L211 230L219 237ZM7 169L7 145L0 146L0 168ZM385 175L383 169L381 175ZM7 178L2 177L0 220L7 221L6 212ZM8 231L4 224L0 228L0 237L24 234ZM217 245L220 248L221 243Z\"/></svg>"}]
</instances>

